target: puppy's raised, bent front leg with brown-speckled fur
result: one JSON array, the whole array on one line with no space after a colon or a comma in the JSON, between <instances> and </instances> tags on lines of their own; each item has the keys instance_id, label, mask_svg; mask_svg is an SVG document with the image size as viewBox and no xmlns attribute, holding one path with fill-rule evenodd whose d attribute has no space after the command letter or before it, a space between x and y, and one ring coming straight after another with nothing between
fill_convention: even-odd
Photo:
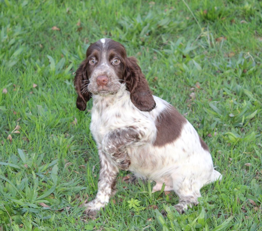
<instances>
[{"instance_id":1,"label":"puppy's raised, bent front leg with brown-speckled fur","mask_svg":"<svg viewBox=\"0 0 262 231\"><path fill-rule=\"evenodd\" d=\"M102 149L110 155L122 170L127 170L131 163L126 147L138 145L143 132L134 127L119 128L108 132L102 140Z\"/></svg>"}]
</instances>

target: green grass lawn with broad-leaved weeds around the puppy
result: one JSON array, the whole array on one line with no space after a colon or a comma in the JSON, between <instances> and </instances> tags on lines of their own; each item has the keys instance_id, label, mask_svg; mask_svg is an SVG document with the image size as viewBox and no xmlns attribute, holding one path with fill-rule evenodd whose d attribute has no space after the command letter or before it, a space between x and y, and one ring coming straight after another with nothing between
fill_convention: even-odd
<instances>
[{"instance_id":1,"label":"green grass lawn with broad-leaved weeds around the puppy","mask_svg":"<svg viewBox=\"0 0 262 231\"><path fill-rule=\"evenodd\" d=\"M262 230L261 25L258 0L0 0L0 230ZM99 158L73 78L103 37L137 57L223 174L183 215L175 193L124 171L97 219L83 215Z\"/></svg>"}]
</instances>

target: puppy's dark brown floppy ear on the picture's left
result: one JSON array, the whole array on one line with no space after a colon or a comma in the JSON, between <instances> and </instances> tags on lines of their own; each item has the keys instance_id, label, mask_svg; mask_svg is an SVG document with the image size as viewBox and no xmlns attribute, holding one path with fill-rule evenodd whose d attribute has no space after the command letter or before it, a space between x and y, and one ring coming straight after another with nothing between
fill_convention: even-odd
<instances>
[{"instance_id":1,"label":"puppy's dark brown floppy ear on the picture's left","mask_svg":"<svg viewBox=\"0 0 262 231\"><path fill-rule=\"evenodd\" d=\"M78 94L77 108L80 111L85 111L86 102L91 98L90 92L85 88L89 81L84 81L84 80L88 80L85 61L83 61L80 64L79 68L75 73L75 79L74 79L75 90L77 91Z\"/></svg>"}]
</instances>

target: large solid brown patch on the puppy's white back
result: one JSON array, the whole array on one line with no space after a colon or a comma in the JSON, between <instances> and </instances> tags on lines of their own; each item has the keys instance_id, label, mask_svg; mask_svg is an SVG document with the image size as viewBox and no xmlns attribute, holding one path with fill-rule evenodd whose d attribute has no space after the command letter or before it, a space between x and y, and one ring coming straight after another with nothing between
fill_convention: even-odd
<instances>
[{"instance_id":1,"label":"large solid brown patch on the puppy's white back","mask_svg":"<svg viewBox=\"0 0 262 231\"><path fill-rule=\"evenodd\" d=\"M170 105L156 118L157 134L154 146L164 146L175 141L181 135L186 122L187 120Z\"/></svg>"}]
</instances>

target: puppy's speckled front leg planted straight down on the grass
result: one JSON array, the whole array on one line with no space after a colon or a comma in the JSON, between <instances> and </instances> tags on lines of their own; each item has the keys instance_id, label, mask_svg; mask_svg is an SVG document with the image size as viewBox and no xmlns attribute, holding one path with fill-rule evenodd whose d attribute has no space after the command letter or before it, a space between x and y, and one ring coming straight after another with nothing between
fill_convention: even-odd
<instances>
[{"instance_id":1,"label":"puppy's speckled front leg planted straight down on the grass","mask_svg":"<svg viewBox=\"0 0 262 231\"><path fill-rule=\"evenodd\" d=\"M118 167L112 160L112 157L99 150L100 172L98 180L98 192L94 200L85 204L85 214L94 218L96 212L109 202L110 196L116 190L116 177L119 172Z\"/></svg>"}]
</instances>

